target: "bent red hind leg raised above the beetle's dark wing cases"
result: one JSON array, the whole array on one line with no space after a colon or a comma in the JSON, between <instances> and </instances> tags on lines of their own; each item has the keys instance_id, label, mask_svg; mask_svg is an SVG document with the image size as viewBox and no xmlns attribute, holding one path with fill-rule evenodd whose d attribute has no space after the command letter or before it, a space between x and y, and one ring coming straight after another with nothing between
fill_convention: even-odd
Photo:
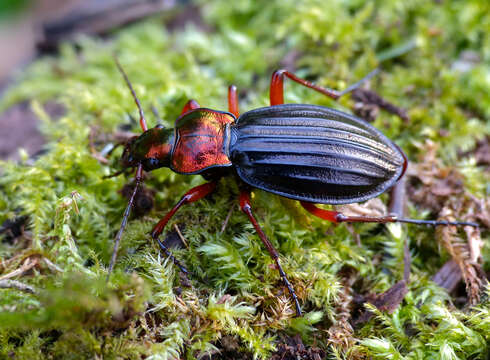
<instances>
[{"instance_id":1,"label":"bent red hind leg raised above the beetle's dark wing cases","mask_svg":"<svg viewBox=\"0 0 490 360\"><path fill-rule=\"evenodd\" d=\"M352 90L357 89L359 86L361 86L362 83L364 83L365 81L369 80L374 75L376 75L378 71L379 71L378 69L375 69L371 71L369 74L367 74L365 77L363 77L361 80L356 82L355 84L349 86L347 89L343 91L337 91L337 90L315 85L307 80L297 77L292 72L289 72L287 70L284 69L276 70L272 74L271 85L270 85L271 106L284 104L284 84L283 84L284 76L287 76L288 78L297 82L298 84L309 87L310 89L318 91L334 100L337 100L342 95L345 95L351 92Z\"/></svg>"}]
</instances>

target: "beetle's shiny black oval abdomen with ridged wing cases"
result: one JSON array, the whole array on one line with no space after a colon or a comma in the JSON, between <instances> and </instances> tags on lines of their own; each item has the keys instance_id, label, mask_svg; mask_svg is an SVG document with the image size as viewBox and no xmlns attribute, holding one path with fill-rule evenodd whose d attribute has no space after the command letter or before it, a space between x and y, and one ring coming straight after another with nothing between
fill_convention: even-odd
<instances>
[{"instance_id":1,"label":"beetle's shiny black oval abdomen with ridged wing cases","mask_svg":"<svg viewBox=\"0 0 490 360\"><path fill-rule=\"evenodd\" d=\"M370 124L322 106L284 104L242 114L230 158L246 183L292 199L343 204L377 196L404 155Z\"/></svg>"}]
</instances>

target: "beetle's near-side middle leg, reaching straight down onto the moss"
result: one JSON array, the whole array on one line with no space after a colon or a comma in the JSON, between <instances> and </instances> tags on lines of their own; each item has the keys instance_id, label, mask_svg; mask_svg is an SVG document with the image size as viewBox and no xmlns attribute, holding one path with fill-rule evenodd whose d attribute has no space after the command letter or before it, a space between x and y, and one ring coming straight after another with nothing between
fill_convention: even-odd
<instances>
[{"instance_id":1,"label":"beetle's near-side middle leg, reaching straight down onto the moss","mask_svg":"<svg viewBox=\"0 0 490 360\"><path fill-rule=\"evenodd\" d=\"M262 243L264 246L267 248L267 251L269 252L269 255L272 257L272 259L275 261L277 270L279 270L279 274L281 275L282 281L284 285L288 288L289 294L294 300L294 305L296 307L296 316L301 316L301 307L299 305L298 297L296 296L296 293L294 292L293 286L289 282L286 273L282 269L281 263L279 262L279 254L277 250L274 248L272 243L269 241L267 236L265 235L264 231L260 227L259 223L255 219L255 217L252 214L252 207L250 205L250 191L249 190L242 190L240 191L240 208L242 211L248 216L248 219L252 223L253 227L255 228L255 231L260 237L260 240L262 240Z\"/></svg>"}]
</instances>

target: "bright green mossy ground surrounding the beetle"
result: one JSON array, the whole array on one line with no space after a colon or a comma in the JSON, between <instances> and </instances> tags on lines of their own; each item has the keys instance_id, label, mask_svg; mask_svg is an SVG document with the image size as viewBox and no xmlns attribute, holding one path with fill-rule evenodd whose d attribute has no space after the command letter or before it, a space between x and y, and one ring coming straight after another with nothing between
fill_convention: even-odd
<instances>
[{"instance_id":1,"label":"bright green mossy ground surrounding the beetle","mask_svg":"<svg viewBox=\"0 0 490 360\"><path fill-rule=\"evenodd\" d=\"M169 19L155 18L108 39L81 37L57 56L32 64L5 94L2 109L32 101L48 143L34 159L24 154L20 163L0 163L0 223L28 216L22 236L5 236L0 243L0 276L30 269L13 279L35 290L0 289L0 357L219 358L216 350L230 352L228 346L244 358L268 358L282 339L300 334L331 358L485 358L488 288L477 307L453 305L430 280L449 259L433 229L359 224L353 227L358 244L352 228L312 219L294 202L255 191L256 215L303 304L304 317L293 318L271 259L236 206L221 232L237 197L232 179L183 208L166 229L173 234L178 225L188 243L174 252L194 274L191 287L159 255L148 231L204 180L167 169L148 175L145 185L156 190L155 207L130 221L115 272L105 283L127 201L118 191L128 180L102 178L117 169L120 149L109 165L102 164L91 152L91 139L95 134L100 151L105 145L100 139L121 126L139 131L130 120L136 108L113 53L150 126L156 123L151 106L167 126L189 98L226 109L232 83L242 111L265 106L271 71L284 65L337 89L382 66L371 89L407 109L410 121L381 111L374 125L414 161L422 159L427 139L437 143L441 163L462 173L469 193L489 196L488 167L477 166L471 155L490 133L488 2L216 0L198 6L207 32L191 24L169 32ZM461 71L455 64L464 60L464 51L478 60ZM42 104L53 100L66 109L60 119L43 110ZM335 103L290 83L286 101L353 107L349 96ZM411 206L409 213L420 217L424 210ZM355 346L343 347L328 332L339 321L339 309L352 303L339 271L354 269L355 293L386 291L403 277L404 239L413 256L408 294L392 314L376 312L355 332L346 331Z\"/></svg>"}]
</instances>

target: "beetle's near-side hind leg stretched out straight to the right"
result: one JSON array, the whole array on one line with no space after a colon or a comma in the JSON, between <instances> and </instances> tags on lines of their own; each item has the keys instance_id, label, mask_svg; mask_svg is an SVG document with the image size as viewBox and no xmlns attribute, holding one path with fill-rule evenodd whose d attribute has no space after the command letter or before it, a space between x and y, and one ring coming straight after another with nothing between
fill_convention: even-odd
<instances>
[{"instance_id":1,"label":"beetle's near-side hind leg stretched out straight to the right","mask_svg":"<svg viewBox=\"0 0 490 360\"><path fill-rule=\"evenodd\" d=\"M344 215L337 211L332 210L324 210L317 207L315 204L300 201L301 206L305 208L306 211L311 214L319 217L320 219L328 220L334 223L340 222L371 222L371 223L392 223L392 222L401 222L401 223L409 223L409 224L417 224L417 225L464 225L464 226L474 226L478 227L478 224L466 221L445 221L445 220L418 220L418 219L405 219L399 218L395 215L386 215L379 217L370 217L370 216L349 216Z\"/></svg>"}]
</instances>

